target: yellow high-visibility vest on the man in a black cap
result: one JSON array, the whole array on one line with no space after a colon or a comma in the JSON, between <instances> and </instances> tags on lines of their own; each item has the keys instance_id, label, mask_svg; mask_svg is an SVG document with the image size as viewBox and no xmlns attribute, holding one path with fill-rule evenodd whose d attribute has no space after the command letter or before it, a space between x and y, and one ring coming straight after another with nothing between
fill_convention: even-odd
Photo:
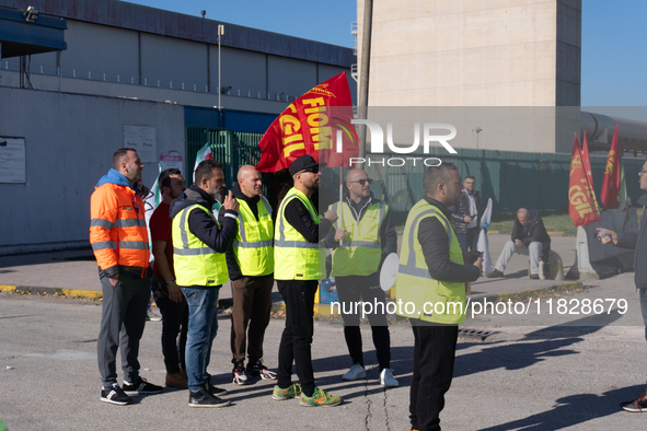
<instances>
[{"instance_id":1,"label":"yellow high-visibility vest on the man in a black cap","mask_svg":"<svg viewBox=\"0 0 647 431\"><path fill-rule=\"evenodd\" d=\"M317 244L309 243L292 225L285 220L287 205L299 199L312 217L315 224L320 218L310 199L291 188L284 198L276 219L274 232L274 278L276 280L317 280L325 273L325 249L321 235Z\"/></svg>"}]
</instances>

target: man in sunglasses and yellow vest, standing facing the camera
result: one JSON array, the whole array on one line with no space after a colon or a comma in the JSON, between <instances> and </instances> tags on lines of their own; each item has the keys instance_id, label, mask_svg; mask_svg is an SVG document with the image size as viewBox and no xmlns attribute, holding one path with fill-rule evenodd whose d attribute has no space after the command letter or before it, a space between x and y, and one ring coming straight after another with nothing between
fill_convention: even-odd
<instances>
[{"instance_id":1,"label":"man in sunglasses and yellow vest, standing facing the camera","mask_svg":"<svg viewBox=\"0 0 647 431\"><path fill-rule=\"evenodd\" d=\"M346 194L340 202L330 209L343 214L343 225L326 235L326 247L333 248L332 277L335 277L342 303L344 338L350 353L350 370L342 376L345 381L366 378L359 313L355 304L368 302L374 310L368 314L373 345L380 369L382 386L398 386L391 370L391 335L384 311L385 292L380 287L380 267L383 259L397 251L397 234L389 207L373 198L371 183L362 170L346 173ZM339 241L342 240L342 244ZM380 307L381 305L381 307Z\"/></svg>"}]
</instances>

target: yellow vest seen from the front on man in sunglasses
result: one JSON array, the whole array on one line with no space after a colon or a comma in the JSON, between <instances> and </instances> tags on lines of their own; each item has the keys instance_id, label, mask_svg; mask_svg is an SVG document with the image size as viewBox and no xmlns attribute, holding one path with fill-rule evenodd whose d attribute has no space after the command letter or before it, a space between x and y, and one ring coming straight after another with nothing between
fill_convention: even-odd
<instances>
[{"instance_id":1,"label":"yellow vest seen from the front on man in sunglasses","mask_svg":"<svg viewBox=\"0 0 647 431\"><path fill-rule=\"evenodd\" d=\"M369 276L378 271L382 259L380 231L388 207L384 202L367 202L366 212L357 221L347 201L335 202L331 209L339 217L335 228L346 229L346 237L340 246L333 249L333 277ZM343 226L340 226L343 222Z\"/></svg>"}]
</instances>

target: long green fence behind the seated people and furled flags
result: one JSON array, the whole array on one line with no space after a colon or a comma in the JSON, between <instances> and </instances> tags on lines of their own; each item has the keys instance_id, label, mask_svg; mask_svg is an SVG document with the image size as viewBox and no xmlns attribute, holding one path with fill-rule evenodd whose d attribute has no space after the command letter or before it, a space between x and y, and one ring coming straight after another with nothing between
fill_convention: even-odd
<instances>
[{"instance_id":1,"label":"long green fence behind the seated people and furled flags","mask_svg":"<svg viewBox=\"0 0 647 431\"><path fill-rule=\"evenodd\" d=\"M370 154L372 160L393 156L394 154ZM492 198L495 214L516 213L521 207L536 208L546 212L568 211L570 154L469 149L458 150L458 154L448 154L441 148L432 148L430 154L426 156L435 156L443 163L457 164L463 178L473 175L484 205L488 198ZM627 194L633 202L636 202L643 194L637 173L644 163L644 159L623 159ZM598 200L605 165L605 156L591 156ZM395 212L407 212L424 196L425 166L419 160L415 166L408 163L402 167L383 167L381 164L359 167L365 168L369 177L376 179L371 186L373 195L385 200ZM324 178L324 187L338 190L338 168L335 168L332 175ZM327 197L328 194L324 196Z\"/></svg>"}]
</instances>

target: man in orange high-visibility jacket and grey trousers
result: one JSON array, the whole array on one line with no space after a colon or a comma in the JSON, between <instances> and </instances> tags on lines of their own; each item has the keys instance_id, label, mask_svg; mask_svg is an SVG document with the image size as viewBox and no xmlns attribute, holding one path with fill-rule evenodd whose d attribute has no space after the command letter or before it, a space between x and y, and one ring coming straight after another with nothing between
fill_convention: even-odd
<instances>
[{"instance_id":1,"label":"man in orange high-visibility jacket and grey trousers","mask_svg":"<svg viewBox=\"0 0 647 431\"><path fill-rule=\"evenodd\" d=\"M96 341L103 381L101 400L124 406L129 395L155 394L161 386L139 376L139 339L150 298L150 251L143 202L137 193L143 164L137 151L119 149L114 168L96 184L90 203L90 243L99 264L103 291ZM117 383L116 354L122 350L124 387Z\"/></svg>"}]
</instances>

